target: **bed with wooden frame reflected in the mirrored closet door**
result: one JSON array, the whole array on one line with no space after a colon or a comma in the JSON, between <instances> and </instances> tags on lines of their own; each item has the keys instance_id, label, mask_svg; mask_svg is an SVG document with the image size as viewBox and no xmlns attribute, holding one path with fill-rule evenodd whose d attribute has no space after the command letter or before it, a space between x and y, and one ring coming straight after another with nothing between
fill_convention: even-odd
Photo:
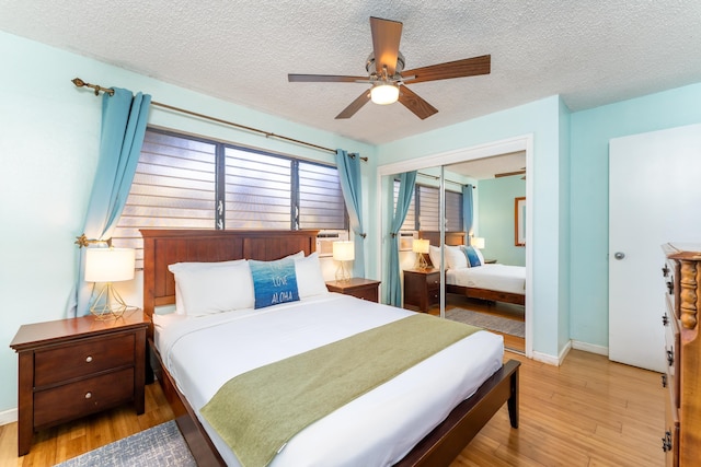
<instances>
[{"instance_id":1,"label":"bed with wooden frame reflected in the mirrored closet door","mask_svg":"<svg viewBox=\"0 0 701 467\"><path fill-rule=\"evenodd\" d=\"M439 232L421 231L418 236L428 240L432 247L440 246ZM446 232L445 238L447 246L464 245L464 232ZM446 261L449 262L448 258ZM446 270L446 292L469 299L525 305L526 268L497 264L484 264L479 268L449 268Z\"/></svg>"}]
</instances>

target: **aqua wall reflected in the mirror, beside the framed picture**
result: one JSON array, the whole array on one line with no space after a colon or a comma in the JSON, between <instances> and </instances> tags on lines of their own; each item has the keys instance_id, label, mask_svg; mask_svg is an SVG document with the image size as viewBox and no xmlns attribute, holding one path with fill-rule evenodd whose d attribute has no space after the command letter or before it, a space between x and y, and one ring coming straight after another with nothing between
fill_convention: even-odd
<instances>
[{"instance_id":1,"label":"aqua wall reflected in the mirror, beside the framed picture","mask_svg":"<svg viewBox=\"0 0 701 467\"><path fill-rule=\"evenodd\" d=\"M521 177L515 175L478 183L475 235L484 237L484 257L504 265L526 266L526 248L515 244L514 199L526 196L526 180Z\"/></svg>"}]
</instances>

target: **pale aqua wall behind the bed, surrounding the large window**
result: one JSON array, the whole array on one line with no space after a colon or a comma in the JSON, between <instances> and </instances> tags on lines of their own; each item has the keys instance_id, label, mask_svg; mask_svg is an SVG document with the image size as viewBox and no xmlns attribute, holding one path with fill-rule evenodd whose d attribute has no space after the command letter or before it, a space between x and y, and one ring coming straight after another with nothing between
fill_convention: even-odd
<instances>
[{"instance_id":1,"label":"pale aqua wall behind the bed, surrounding the large window","mask_svg":"<svg viewBox=\"0 0 701 467\"><path fill-rule=\"evenodd\" d=\"M80 77L152 95L154 101L217 116L325 148L369 156L364 185L375 186L375 148L292 124L117 67L0 33L0 423L16 407L16 354L9 348L23 324L66 316L76 277L76 236L96 167L101 103L70 80ZM333 162L333 154L152 107L149 124L239 144ZM370 210L372 198L364 208ZM367 258L376 257L368 245ZM366 259L367 262L367 259ZM140 275L133 289L140 303ZM122 283L120 283L122 284ZM127 284L128 285L128 284ZM125 296L127 299L127 296ZM138 300L138 301L137 301ZM10 416L11 417L11 416Z\"/></svg>"}]
</instances>

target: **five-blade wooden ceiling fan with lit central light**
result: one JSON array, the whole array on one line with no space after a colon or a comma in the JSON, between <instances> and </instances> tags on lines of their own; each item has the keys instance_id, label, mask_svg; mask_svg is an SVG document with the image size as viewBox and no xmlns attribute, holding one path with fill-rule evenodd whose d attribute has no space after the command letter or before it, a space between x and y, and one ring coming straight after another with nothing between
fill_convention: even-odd
<instances>
[{"instance_id":1,"label":"five-blade wooden ceiling fan with lit central light","mask_svg":"<svg viewBox=\"0 0 701 467\"><path fill-rule=\"evenodd\" d=\"M365 65L367 77L288 74L288 81L371 84L369 90L364 91L336 115L336 118L350 118L371 100L377 104L392 104L399 101L423 120L436 114L438 109L416 95L406 84L489 74L491 71L490 55L404 70L404 56L399 51L402 23L371 16L370 33L372 52Z\"/></svg>"}]
</instances>

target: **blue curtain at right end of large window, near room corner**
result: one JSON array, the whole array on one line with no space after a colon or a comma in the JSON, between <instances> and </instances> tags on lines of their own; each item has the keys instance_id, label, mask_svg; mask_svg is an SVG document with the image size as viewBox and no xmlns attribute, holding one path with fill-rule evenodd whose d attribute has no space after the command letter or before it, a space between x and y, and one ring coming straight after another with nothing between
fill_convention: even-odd
<instances>
[{"instance_id":1,"label":"blue curtain at right end of large window, near room corner","mask_svg":"<svg viewBox=\"0 0 701 467\"><path fill-rule=\"evenodd\" d=\"M353 261L353 277L365 277L365 231L363 230L363 190L360 173L360 155L352 154L342 149L336 150L336 166L341 179L341 190L348 211L348 221L353 232L355 259Z\"/></svg>"}]
</instances>

